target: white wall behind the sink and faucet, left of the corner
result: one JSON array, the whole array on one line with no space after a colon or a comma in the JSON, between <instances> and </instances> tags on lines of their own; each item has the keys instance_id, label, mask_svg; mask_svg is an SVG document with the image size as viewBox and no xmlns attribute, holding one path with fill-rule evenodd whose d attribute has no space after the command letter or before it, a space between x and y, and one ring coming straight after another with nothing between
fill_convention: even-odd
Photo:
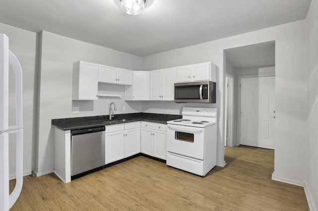
<instances>
[{"instance_id":1,"label":"white wall behind the sink and faucet, left of the corner","mask_svg":"<svg viewBox=\"0 0 318 211\"><path fill-rule=\"evenodd\" d=\"M54 133L51 119L78 116L108 115L114 102L116 113L140 112L140 102L123 99L72 101L73 62L84 60L125 69L140 70L142 58L78 40L42 32L41 78L39 102L38 175L54 170ZM103 87L103 86L102 86ZM109 86L114 92L124 93L123 86ZM79 106L79 113L72 113L72 106ZM123 111L126 106L126 111Z\"/></svg>"}]
</instances>

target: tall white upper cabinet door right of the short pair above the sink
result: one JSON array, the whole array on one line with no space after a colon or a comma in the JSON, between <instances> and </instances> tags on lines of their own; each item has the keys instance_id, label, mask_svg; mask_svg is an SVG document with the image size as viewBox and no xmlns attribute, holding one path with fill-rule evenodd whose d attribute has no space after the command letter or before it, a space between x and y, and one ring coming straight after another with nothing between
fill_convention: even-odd
<instances>
[{"instance_id":1,"label":"tall white upper cabinet door right of the short pair above the sink","mask_svg":"<svg viewBox=\"0 0 318 211\"><path fill-rule=\"evenodd\" d=\"M133 100L149 100L149 71L134 71Z\"/></svg>"}]
</instances>

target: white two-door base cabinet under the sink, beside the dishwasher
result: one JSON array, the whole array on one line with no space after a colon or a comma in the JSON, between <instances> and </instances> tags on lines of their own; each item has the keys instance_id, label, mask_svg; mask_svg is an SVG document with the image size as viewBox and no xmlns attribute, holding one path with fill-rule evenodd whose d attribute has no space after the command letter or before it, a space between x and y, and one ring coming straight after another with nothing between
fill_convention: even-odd
<instances>
[{"instance_id":1,"label":"white two-door base cabinet under the sink, beside the dishwasher","mask_svg":"<svg viewBox=\"0 0 318 211\"><path fill-rule=\"evenodd\" d=\"M105 126L105 164L140 153L140 122Z\"/></svg>"}]
</instances>

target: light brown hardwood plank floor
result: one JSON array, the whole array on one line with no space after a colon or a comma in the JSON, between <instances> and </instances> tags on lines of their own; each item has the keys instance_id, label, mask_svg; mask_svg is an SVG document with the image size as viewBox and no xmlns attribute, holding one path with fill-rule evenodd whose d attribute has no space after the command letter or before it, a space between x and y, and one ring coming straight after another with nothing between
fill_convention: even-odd
<instances>
[{"instance_id":1,"label":"light brown hardwood plank floor","mask_svg":"<svg viewBox=\"0 0 318 211\"><path fill-rule=\"evenodd\" d=\"M227 148L225 160L224 168L216 166L205 177L142 156L68 184L54 173L25 176L11 211L309 210L304 188L271 180L273 151Z\"/></svg>"}]
</instances>

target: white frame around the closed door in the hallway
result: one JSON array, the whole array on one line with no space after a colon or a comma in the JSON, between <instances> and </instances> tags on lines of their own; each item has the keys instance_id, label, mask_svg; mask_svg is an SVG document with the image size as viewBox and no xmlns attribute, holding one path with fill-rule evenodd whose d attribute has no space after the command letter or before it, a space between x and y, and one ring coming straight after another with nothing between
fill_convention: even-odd
<instances>
[{"instance_id":1,"label":"white frame around the closed door in the hallway","mask_svg":"<svg viewBox=\"0 0 318 211\"><path fill-rule=\"evenodd\" d=\"M275 73L253 74L253 75L238 75L238 112L237 112L237 145L240 145L240 81L242 78L258 78L275 76ZM276 78L275 78L276 80ZM276 88L275 88L276 90Z\"/></svg>"}]
</instances>

